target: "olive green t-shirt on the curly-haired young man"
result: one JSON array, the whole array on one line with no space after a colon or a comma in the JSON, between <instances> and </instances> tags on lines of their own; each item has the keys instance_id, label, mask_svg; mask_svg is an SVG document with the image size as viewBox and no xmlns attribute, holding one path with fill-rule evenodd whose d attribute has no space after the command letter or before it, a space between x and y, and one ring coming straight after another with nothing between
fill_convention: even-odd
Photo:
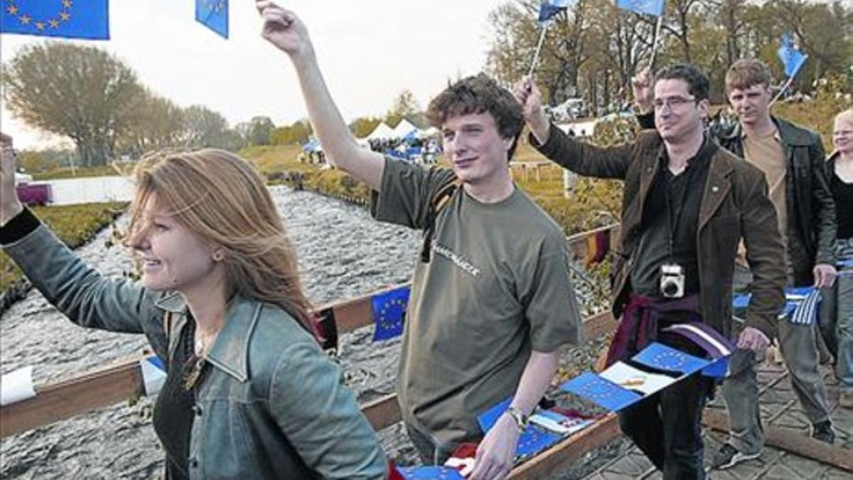
<instances>
[{"instance_id":1,"label":"olive green t-shirt on the curly-haired young man","mask_svg":"<svg viewBox=\"0 0 853 480\"><path fill-rule=\"evenodd\" d=\"M447 169L386 159L376 220L422 229ZM524 192L481 203L456 190L409 297L397 394L403 419L443 450L483 435L477 416L514 395L531 349L577 343L566 238Z\"/></svg>"}]
</instances>

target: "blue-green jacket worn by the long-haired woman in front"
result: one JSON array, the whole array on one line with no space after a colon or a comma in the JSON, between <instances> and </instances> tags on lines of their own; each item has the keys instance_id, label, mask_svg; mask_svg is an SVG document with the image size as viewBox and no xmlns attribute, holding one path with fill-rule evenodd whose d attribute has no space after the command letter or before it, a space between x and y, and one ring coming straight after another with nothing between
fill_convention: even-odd
<instances>
[{"instance_id":1,"label":"blue-green jacket worn by the long-haired woman in front","mask_svg":"<svg viewBox=\"0 0 853 480\"><path fill-rule=\"evenodd\" d=\"M103 278L44 225L3 248L73 322L144 333L161 358L171 355L187 322L179 294ZM207 360L193 409L193 480L385 477L385 455L340 367L280 307L232 299Z\"/></svg>"}]
</instances>

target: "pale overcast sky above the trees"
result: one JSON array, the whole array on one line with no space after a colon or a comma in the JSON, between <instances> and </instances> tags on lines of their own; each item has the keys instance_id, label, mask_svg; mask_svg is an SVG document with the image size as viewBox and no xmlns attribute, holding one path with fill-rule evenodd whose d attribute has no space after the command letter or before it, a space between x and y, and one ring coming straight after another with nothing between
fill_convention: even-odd
<instances>
[{"instance_id":1,"label":"pale overcast sky above the trees","mask_svg":"<svg viewBox=\"0 0 853 480\"><path fill-rule=\"evenodd\" d=\"M490 38L488 14L502 0L362 0L282 2L307 24L326 80L344 117L384 114L408 88L426 106L448 79L479 72ZM304 118L293 67L260 38L252 0L230 1L230 38L194 20L194 0L113 0L108 41L86 41L113 52L142 84L186 107L204 104L233 126L254 115L282 125ZM72 40L51 40L72 41ZM0 36L0 59L44 42ZM51 140L15 120L3 105L0 128L15 146Z\"/></svg>"}]
</instances>

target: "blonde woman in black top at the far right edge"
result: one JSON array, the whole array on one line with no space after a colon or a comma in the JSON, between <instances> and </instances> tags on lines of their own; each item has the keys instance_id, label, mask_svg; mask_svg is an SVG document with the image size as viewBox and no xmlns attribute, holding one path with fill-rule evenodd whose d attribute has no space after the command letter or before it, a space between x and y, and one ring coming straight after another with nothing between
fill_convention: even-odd
<instances>
[{"instance_id":1,"label":"blonde woman in black top at the far right edge","mask_svg":"<svg viewBox=\"0 0 853 480\"><path fill-rule=\"evenodd\" d=\"M835 117L835 152L827 161L829 188L835 201L838 235L835 255L838 280L825 291L821 326L833 338L838 405L853 408L853 108ZM828 331L827 331L828 330Z\"/></svg>"}]
</instances>

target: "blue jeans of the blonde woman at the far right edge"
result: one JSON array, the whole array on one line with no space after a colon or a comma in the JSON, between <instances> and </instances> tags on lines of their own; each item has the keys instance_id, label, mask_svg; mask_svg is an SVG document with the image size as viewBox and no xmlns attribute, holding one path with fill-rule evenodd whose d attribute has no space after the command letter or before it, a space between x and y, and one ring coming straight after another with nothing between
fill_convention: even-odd
<instances>
[{"instance_id":1,"label":"blue jeans of the blonde woman at the far right edge","mask_svg":"<svg viewBox=\"0 0 853 480\"><path fill-rule=\"evenodd\" d=\"M838 240L838 260L853 260L853 238ZM832 288L823 290L821 331L835 357L835 375L843 391L853 391L853 268L842 268Z\"/></svg>"}]
</instances>

